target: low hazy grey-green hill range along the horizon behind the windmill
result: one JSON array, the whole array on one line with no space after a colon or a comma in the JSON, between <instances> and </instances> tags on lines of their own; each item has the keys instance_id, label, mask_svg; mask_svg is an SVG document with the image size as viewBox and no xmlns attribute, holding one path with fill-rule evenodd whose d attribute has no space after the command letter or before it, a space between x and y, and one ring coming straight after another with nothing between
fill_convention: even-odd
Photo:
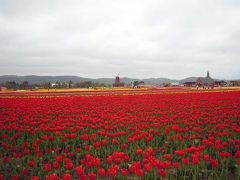
<instances>
[{"instance_id":1,"label":"low hazy grey-green hill range along the horizon behind the windmill","mask_svg":"<svg viewBox=\"0 0 240 180\"><path fill-rule=\"evenodd\" d=\"M130 84L133 81L144 81L145 84L149 85L160 85L164 83L172 83L172 82L193 82L196 81L197 77L188 77L181 80L172 80L168 78L146 78L146 79L136 79L136 78L128 78L128 77L120 77L121 82L124 82L125 84ZM69 82L72 81L74 83L76 82L83 82L83 81L92 81L97 83L104 83L106 85L113 84L114 78L85 78L85 77L79 77L79 76L16 76L16 75L3 75L0 76L0 83L5 83L7 81L15 81L17 83L22 83L24 81L28 81L29 84L40 84L44 82L51 82L55 83L57 81L59 82Z\"/></svg>"}]
</instances>

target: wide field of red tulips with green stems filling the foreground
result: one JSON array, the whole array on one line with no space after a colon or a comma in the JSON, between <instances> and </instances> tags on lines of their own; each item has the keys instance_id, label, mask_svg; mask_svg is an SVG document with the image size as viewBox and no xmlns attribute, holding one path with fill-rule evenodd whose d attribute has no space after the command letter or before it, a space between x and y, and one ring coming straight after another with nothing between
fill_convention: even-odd
<instances>
[{"instance_id":1,"label":"wide field of red tulips with green stems filling the foreground","mask_svg":"<svg viewBox=\"0 0 240 180\"><path fill-rule=\"evenodd\" d=\"M240 91L0 94L0 179L240 179Z\"/></svg>"}]
</instances>

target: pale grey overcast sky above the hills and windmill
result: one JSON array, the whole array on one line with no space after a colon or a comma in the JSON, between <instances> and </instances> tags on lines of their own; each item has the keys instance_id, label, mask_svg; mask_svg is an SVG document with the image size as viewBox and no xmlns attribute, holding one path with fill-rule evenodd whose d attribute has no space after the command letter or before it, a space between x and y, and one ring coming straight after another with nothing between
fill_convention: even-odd
<instances>
[{"instance_id":1,"label":"pale grey overcast sky above the hills and windmill","mask_svg":"<svg viewBox=\"0 0 240 180\"><path fill-rule=\"evenodd\" d=\"M239 0L0 0L0 75L240 78Z\"/></svg>"}]
</instances>

